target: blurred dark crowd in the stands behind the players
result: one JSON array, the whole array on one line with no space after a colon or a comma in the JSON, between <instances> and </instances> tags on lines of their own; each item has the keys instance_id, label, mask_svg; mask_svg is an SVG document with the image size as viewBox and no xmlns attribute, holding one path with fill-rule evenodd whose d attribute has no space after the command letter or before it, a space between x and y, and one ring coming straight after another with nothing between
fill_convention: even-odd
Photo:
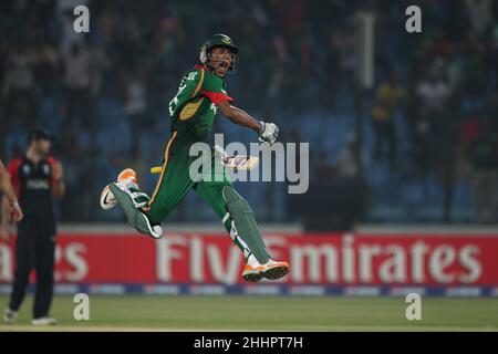
<instances>
[{"instance_id":1,"label":"blurred dark crowd in the stands behind the players","mask_svg":"<svg viewBox=\"0 0 498 354\"><path fill-rule=\"evenodd\" d=\"M73 30L79 4L90 9L90 33ZM409 4L423 9L423 33L404 30ZM354 178L365 155L407 180L432 176L452 187L461 179L473 186L473 218L497 221L498 4L491 0L1 1L0 153L22 153L23 134L49 126L60 137L55 153L70 166L63 219L95 219L85 191L98 189L96 166L149 166L160 156L163 142L147 152L144 139L157 132L167 138L167 104L214 32L240 46L239 72L228 79L238 106L271 117L289 135L299 136L317 112L345 112L354 122L354 102L344 102L357 93L360 10L376 15L375 86L362 92L374 143L359 153L350 134L340 149L318 146L312 168ZM132 133L120 135L121 125ZM128 144L120 147L121 139Z\"/></svg>"}]
</instances>

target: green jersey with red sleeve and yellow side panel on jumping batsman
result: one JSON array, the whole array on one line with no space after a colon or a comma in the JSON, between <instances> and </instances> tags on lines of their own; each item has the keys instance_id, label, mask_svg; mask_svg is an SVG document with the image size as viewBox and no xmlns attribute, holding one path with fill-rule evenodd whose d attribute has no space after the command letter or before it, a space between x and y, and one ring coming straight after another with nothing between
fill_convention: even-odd
<instances>
[{"instance_id":1,"label":"green jersey with red sleeve and yellow side panel on jumping batsman","mask_svg":"<svg viewBox=\"0 0 498 354\"><path fill-rule=\"evenodd\" d=\"M169 102L172 128L178 137L205 140L211 131L217 104L227 95L225 81L206 66L195 65L181 79L178 93Z\"/></svg>"}]
</instances>

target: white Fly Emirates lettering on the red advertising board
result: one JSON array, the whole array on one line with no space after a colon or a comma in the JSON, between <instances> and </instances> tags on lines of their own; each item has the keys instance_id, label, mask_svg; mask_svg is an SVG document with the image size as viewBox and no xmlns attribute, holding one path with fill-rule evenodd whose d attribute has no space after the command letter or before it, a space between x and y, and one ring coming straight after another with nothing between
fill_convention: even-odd
<instances>
[{"instance_id":1,"label":"white Fly Emirates lettering on the red advertising board","mask_svg":"<svg viewBox=\"0 0 498 354\"><path fill-rule=\"evenodd\" d=\"M321 242L307 241L307 237L264 239L270 254L291 264L283 282L469 284L483 273L478 246L438 242L437 237L430 241L403 237L382 241L382 237L372 240L352 235L332 237L331 241L321 238ZM156 243L156 275L162 282L234 284L240 282L242 263L235 246L222 247L212 238L170 235Z\"/></svg>"}]
</instances>

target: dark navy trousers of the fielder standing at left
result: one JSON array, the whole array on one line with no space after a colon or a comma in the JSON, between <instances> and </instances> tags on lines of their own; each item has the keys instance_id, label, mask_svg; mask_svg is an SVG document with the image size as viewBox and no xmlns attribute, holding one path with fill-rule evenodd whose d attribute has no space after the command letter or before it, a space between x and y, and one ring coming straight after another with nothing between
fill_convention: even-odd
<instances>
[{"instance_id":1,"label":"dark navy trousers of the fielder standing at left","mask_svg":"<svg viewBox=\"0 0 498 354\"><path fill-rule=\"evenodd\" d=\"M9 308L18 311L24 300L31 271L37 272L33 319L49 315L53 294L55 218L24 217L18 226L15 271Z\"/></svg>"}]
</instances>

